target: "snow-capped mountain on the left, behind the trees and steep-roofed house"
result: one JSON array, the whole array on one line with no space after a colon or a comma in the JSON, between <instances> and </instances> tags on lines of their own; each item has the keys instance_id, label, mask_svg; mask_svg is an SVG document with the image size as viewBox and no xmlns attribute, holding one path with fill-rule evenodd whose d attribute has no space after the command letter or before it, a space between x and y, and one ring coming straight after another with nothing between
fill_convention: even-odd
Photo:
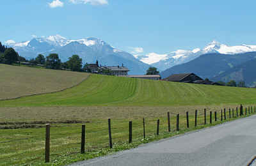
<instances>
[{"instance_id":1,"label":"snow-capped mountain on the left, behind the trees and steep-roofed house","mask_svg":"<svg viewBox=\"0 0 256 166\"><path fill-rule=\"evenodd\" d=\"M7 47L13 47L20 56L27 59L35 58L38 54L48 56L56 53L61 61L67 61L74 54L83 59L83 63L95 63L106 66L124 64L131 70L129 74L145 74L149 65L136 59L131 54L111 47L108 43L97 38L83 38L68 40L60 35L33 38L29 41L15 42L8 40L4 43Z\"/></svg>"}]
</instances>

